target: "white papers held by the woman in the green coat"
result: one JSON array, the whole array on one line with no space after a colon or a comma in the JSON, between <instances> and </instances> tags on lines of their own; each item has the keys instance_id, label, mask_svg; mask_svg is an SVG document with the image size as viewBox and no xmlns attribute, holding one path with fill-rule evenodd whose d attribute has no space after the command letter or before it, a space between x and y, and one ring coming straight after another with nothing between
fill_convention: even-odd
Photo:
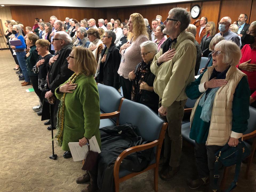
<instances>
[{"instance_id":1,"label":"white papers held by the woman in the green coat","mask_svg":"<svg viewBox=\"0 0 256 192\"><path fill-rule=\"evenodd\" d=\"M99 149L99 145L95 136L89 139L89 143L90 143L91 151L101 153L101 150ZM88 145L84 145L80 147L79 142L69 142L68 144L69 144L69 149L74 161L82 161L86 159L87 153L89 150Z\"/></svg>"}]
</instances>

